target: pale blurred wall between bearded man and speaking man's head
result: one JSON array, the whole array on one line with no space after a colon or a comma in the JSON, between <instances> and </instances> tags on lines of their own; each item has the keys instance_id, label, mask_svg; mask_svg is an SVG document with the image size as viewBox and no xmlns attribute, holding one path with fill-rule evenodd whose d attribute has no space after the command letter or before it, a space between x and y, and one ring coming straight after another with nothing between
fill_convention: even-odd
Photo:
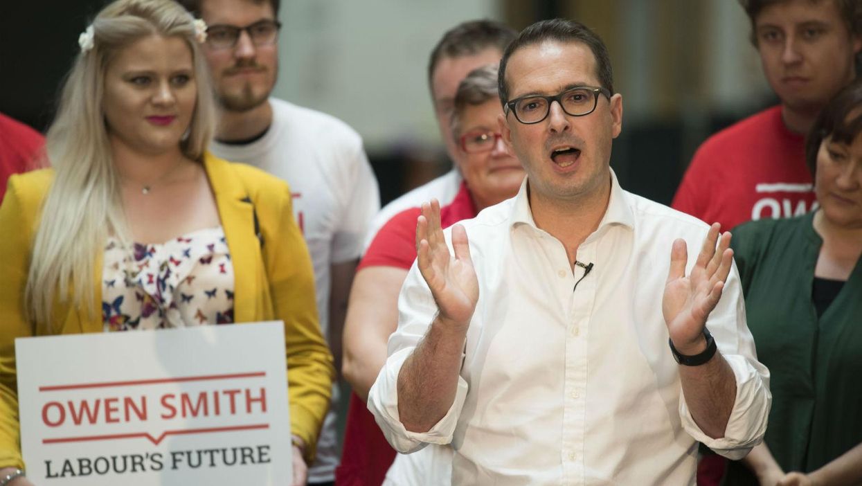
<instances>
[{"instance_id":1,"label":"pale blurred wall between bearded man and speaking man's head","mask_svg":"<svg viewBox=\"0 0 862 486\"><path fill-rule=\"evenodd\" d=\"M436 146L428 55L459 22L500 16L496 0L283 0L274 94L347 121L369 152Z\"/></svg>"}]
</instances>

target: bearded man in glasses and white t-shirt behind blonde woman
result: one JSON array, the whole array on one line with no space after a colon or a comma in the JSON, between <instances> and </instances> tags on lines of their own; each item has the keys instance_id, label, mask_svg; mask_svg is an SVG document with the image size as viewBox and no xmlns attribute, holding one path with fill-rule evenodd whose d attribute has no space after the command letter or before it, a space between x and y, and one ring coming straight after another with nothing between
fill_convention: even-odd
<instances>
[{"instance_id":1,"label":"bearded man in glasses and white t-shirt behind blonde woman","mask_svg":"<svg viewBox=\"0 0 862 486\"><path fill-rule=\"evenodd\" d=\"M278 74L278 0L184 0L207 23L203 46L222 106L210 151L290 184L293 210L315 269L323 335L340 369L347 296L365 234L380 208L359 134L344 122L270 97ZM338 400L337 383L333 402ZM324 421L309 483L334 481L336 417ZM304 470L301 461L294 469ZM304 478L303 478L304 483Z\"/></svg>"}]
</instances>

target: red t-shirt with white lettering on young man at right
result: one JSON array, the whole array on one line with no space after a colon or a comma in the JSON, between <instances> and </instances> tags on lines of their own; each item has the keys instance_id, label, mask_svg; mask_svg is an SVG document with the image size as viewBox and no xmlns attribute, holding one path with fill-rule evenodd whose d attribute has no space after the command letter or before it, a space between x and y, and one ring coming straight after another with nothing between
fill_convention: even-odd
<instances>
[{"instance_id":1,"label":"red t-shirt with white lettering on young man at right","mask_svg":"<svg viewBox=\"0 0 862 486\"><path fill-rule=\"evenodd\" d=\"M722 230L815 208L805 137L765 109L709 137L697 149L671 206Z\"/></svg>"}]
</instances>

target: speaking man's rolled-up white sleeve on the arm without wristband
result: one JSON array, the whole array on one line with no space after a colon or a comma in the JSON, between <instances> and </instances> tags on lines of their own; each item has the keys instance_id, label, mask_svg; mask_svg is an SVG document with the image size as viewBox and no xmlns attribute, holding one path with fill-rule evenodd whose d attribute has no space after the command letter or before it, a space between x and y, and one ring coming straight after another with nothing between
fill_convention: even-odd
<instances>
[{"instance_id":1,"label":"speaking man's rolled-up white sleeve on the arm without wristband","mask_svg":"<svg viewBox=\"0 0 862 486\"><path fill-rule=\"evenodd\" d=\"M447 414L426 433L404 428L398 414L398 373L434 321L437 305L431 290L416 265L410 268L398 296L398 328L389 339L389 358L368 393L368 409L374 414L386 440L398 452L416 452L425 445L452 442L461 408L467 395L467 382L458 378L458 389Z\"/></svg>"}]
</instances>

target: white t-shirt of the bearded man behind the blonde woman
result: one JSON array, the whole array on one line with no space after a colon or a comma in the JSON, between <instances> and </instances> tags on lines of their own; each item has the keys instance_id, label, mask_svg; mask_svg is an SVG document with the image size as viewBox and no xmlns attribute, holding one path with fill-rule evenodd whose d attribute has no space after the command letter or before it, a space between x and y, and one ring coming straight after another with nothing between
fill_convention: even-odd
<instances>
[{"instance_id":1,"label":"white t-shirt of the bearded man behind the blonde woman","mask_svg":"<svg viewBox=\"0 0 862 486\"><path fill-rule=\"evenodd\" d=\"M270 98L272 125L245 145L213 141L222 159L259 167L290 184L293 213L309 246L321 330L328 336L330 266L359 259L372 218L380 208L377 179L362 139L343 121ZM337 402L337 386L333 402ZM334 480L338 465L335 414L330 410L317 443L309 482Z\"/></svg>"}]
</instances>

